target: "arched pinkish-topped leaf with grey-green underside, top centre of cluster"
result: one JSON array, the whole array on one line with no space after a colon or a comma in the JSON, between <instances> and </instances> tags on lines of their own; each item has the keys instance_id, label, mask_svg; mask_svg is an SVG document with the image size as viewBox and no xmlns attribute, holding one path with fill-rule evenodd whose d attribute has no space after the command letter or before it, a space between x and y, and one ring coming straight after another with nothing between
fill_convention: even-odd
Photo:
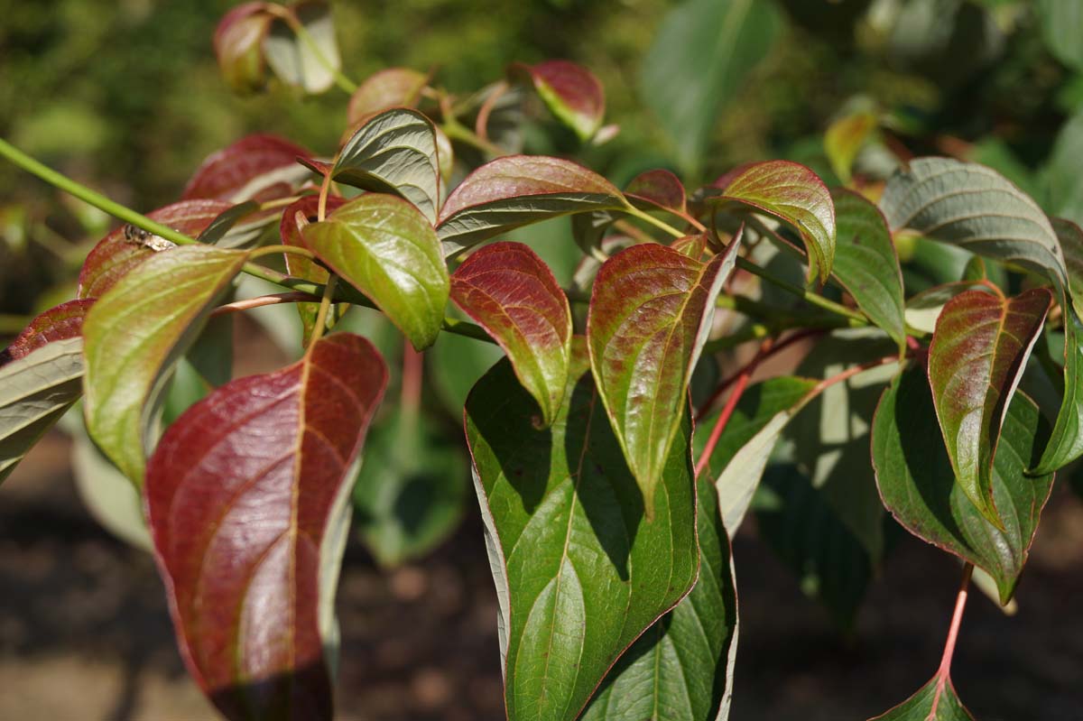
<instances>
[{"instance_id":1,"label":"arched pinkish-topped leaf with grey-green underside, top centre of cluster","mask_svg":"<svg viewBox=\"0 0 1083 721\"><path fill-rule=\"evenodd\" d=\"M454 255L527 223L625 208L621 191L592 170L561 158L509 155L478 168L452 192L436 233L444 254Z\"/></svg>"}]
</instances>

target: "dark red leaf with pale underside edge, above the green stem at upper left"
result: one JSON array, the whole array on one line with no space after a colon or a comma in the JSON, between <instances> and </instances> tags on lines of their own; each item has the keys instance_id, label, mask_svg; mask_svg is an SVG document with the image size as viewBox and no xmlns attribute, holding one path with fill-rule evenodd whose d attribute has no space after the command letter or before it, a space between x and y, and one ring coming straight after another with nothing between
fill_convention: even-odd
<instances>
[{"instance_id":1,"label":"dark red leaf with pale underside edge, above the green stem at upper left","mask_svg":"<svg viewBox=\"0 0 1083 721\"><path fill-rule=\"evenodd\" d=\"M247 135L212 153L184 188L184 200L213 198L230 204L273 200L290 195L309 178L298 157L312 153L283 137Z\"/></svg>"}]
</instances>

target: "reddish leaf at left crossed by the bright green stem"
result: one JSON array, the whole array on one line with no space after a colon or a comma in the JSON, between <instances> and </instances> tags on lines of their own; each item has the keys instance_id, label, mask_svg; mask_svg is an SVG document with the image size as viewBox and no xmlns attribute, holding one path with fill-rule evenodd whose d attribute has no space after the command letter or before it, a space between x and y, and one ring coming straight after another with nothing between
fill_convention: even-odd
<instances>
[{"instance_id":1,"label":"reddish leaf at left crossed by the bright green stem","mask_svg":"<svg viewBox=\"0 0 1083 721\"><path fill-rule=\"evenodd\" d=\"M182 200L147 213L147 218L191 237L203 233L221 213L230 209L222 200ZM102 238L83 261L79 272L77 298L100 298L126 273L154 255L144 245L125 237L125 226Z\"/></svg>"}]
</instances>

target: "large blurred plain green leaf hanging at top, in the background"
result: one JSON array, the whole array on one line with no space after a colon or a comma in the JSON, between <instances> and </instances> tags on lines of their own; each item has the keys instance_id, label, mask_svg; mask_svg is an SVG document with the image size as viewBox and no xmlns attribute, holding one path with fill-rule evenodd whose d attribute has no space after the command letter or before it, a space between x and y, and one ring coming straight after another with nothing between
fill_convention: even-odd
<instances>
[{"instance_id":1,"label":"large blurred plain green leaf hanging at top, in the background","mask_svg":"<svg viewBox=\"0 0 1083 721\"><path fill-rule=\"evenodd\" d=\"M783 27L771 2L690 0L662 22L639 88L689 175L703 168L719 112L732 102Z\"/></svg>"}]
</instances>

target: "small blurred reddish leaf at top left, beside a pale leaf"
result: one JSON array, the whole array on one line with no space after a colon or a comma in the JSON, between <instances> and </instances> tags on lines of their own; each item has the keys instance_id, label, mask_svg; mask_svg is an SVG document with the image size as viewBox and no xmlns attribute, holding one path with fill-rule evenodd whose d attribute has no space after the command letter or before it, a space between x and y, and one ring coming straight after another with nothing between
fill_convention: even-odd
<instances>
[{"instance_id":1,"label":"small blurred reddish leaf at top left, beside a pale leaf","mask_svg":"<svg viewBox=\"0 0 1083 721\"><path fill-rule=\"evenodd\" d=\"M262 43L271 19L266 3L246 2L227 12L214 30L218 66L237 92L261 90L266 83Z\"/></svg>"}]
</instances>

